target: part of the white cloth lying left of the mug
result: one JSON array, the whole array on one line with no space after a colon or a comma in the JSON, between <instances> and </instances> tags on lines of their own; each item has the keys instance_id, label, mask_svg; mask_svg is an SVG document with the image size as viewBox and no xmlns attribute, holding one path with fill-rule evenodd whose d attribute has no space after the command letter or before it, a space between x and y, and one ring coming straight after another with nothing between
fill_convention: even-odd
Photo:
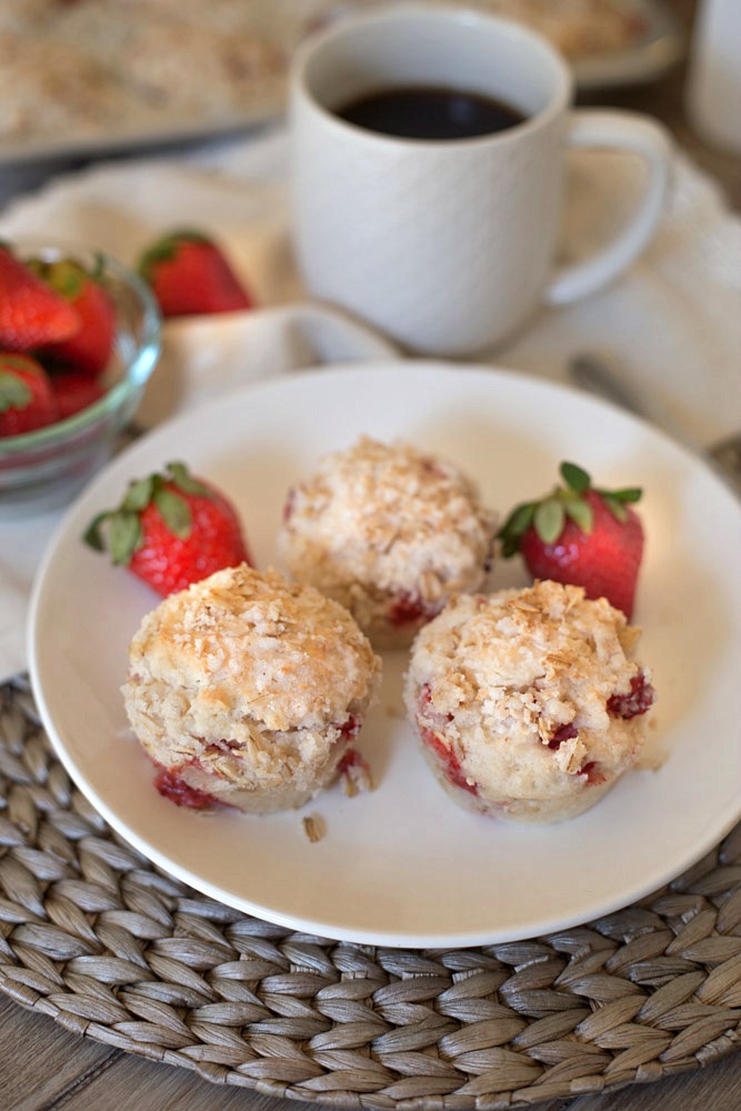
<instances>
[{"instance_id":1,"label":"part of the white cloth lying left of the mug","mask_svg":"<svg viewBox=\"0 0 741 1111\"><path fill-rule=\"evenodd\" d=\"M0 237L92 243L128 263L173 227L209 228L228 247L264 308L169 321L137 414L144 428L257 378L398 357L361 322L302 299L286 236L286 187L267 180L270 149L256 144L250 180L169 159L104 163L53 180L0 214ZM252 153L249 143L246 153ZM11 519L0 509L0 681L27 668L33 578L63 512Z\"/></svg>"}]
</instances>

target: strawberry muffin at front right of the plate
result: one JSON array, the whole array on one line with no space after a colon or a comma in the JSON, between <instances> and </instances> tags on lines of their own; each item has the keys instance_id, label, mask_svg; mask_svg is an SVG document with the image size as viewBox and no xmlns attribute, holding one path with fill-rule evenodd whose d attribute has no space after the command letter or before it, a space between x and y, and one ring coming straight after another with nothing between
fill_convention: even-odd
<instances>
[{"instance_id":1,"label":"strawberry muffin at front right of the plate","mask_svg":"<svg viewBox=\"0 0 741 1111\"><path fill-rule=\"evenodd\" d=\"M404 699L435 778L471 810L572 818L631 768L654 701L640 632L552 581L461 595L417 637Z\"/></svg>"}]
</instances>

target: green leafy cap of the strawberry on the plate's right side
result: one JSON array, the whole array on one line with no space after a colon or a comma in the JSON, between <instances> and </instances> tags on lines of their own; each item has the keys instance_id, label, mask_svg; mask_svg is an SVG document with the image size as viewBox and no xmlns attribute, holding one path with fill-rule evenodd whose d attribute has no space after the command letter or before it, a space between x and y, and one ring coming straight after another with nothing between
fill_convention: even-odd
<instances>
[{"instance_id":1,"label":"green leafy cap of the strawberry on the plate's right side","mask_svg":"<svg viewBox=\"0 0 741 1111\"><path fill-rule=\"evenodd\" d=\"M593 529L594 514L584 497L588 491L598 493L617 521L627 520L625 506L640 500L642 491L638 487L621 490L603 490L592 487L589 473L577 463L562 462L559 472L563 486L557 486L545 498L522 502L512 510L499 530L502 556L508 559L520 551L522 537L534 529L545 544L555 543L563 532L567 520L573 521L584 536Z\"/></svg>"}]
</instances>

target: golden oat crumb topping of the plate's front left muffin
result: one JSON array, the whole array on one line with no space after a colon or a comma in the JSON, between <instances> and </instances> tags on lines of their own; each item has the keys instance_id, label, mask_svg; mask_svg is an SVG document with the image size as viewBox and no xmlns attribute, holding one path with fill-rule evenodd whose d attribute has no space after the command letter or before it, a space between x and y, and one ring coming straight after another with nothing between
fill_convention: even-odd
<instances>
[{"instance_id":1,"label":"golden oat crumb topping of the plate's front left muffin","mask_svg":"<svg viewBox=\"0 0 741 1111\"><path fill-rule=\"evenodd\" d=\"M247 564L164 599L132 641L134 680L144 659L151 679L177 673L203 703L279 731L341 725L378 670L346 610Z\"/></svg>"}]
</instances>

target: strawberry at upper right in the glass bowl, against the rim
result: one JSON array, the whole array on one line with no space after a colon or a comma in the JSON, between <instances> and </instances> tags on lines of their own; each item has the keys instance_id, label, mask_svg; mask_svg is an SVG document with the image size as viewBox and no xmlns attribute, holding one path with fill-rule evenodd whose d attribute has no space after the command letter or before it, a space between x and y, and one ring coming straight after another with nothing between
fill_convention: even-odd
<instances>
[{"instance_id":1,"label":"strawberry at upper right in the glass bowl, against the rim","mask_svg":"<svg viewBox=\"0 0 741 1111\"><path fill-rule=\"evenodd\" d=\"M80 329L68 339L40 347L39 354L97 378L106 370L116 339L116 308L101 283L100 268L86 269L72 259L32 261L34 273L74 309Z\"/></svg>"}]
</instances>

